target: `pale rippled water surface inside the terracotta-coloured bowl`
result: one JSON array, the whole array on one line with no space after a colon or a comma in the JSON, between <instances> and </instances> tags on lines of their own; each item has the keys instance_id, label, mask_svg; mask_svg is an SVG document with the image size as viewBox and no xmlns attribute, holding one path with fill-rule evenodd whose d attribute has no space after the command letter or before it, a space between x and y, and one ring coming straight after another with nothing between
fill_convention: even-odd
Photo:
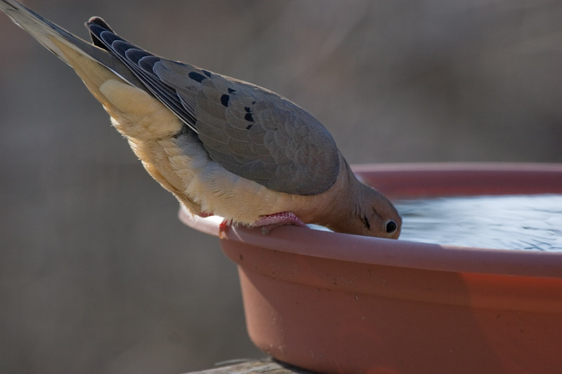
<instances>
[{"instance_id":1,"label":"pale rippled water surface inside the terracotta-coloured bowl","mask_svg":"<svg viewBox=\"0 0 562 374\"><path fill-rule=\"evenodd\" d=\"M562 251L562 195L400 200L400 239L480 248Z\"/></svg>"}]
</instances>

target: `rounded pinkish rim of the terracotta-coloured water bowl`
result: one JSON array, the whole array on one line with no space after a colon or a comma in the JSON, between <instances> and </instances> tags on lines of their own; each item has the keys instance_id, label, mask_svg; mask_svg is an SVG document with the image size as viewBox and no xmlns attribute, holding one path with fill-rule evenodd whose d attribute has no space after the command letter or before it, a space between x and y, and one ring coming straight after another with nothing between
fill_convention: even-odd
<instances>
[{"instance_id":1,"label":"rounded pinkish rim of the terracotta-coloured water bowl","mask_svg":"<svg viewBox=\"0 0 562 374\"><path fill-rule=\"evenodd\" d=\"M358 173L398 172L420 175L424 171L447 173L478 173L485 171L546 171L554 173L561 182L562 163L416 163L353 166ZM378 187L377 187L378 188ZM562 191L561 191L562 192ZM323 232L302 227L277 227L268 235L259 228L228 227L219 229L221 218L201 218L191 215L184 207L180 220L194 229L218 236L221 240L236 241L271 251L283 251L331 260L359 262L370 265L407 267L445 272L503 274L514 276L542 276L562 279L562 252L505 250L421 243L405 240L381 239L370 236ZM295 238L298 238L296 240ZM342 248L344 250L342 251Z\"/></svg>"}]
</instances>

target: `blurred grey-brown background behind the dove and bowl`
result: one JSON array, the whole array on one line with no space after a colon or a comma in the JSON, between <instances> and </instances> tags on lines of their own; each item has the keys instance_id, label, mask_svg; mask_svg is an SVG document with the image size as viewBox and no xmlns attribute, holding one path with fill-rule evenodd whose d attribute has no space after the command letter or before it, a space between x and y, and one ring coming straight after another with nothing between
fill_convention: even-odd
<instances>
[{"instance_id":1,"label":"blurred grey-brown background behind the dove and bowl","mask_svg":"<svg viewBox=\"0 0 562 374\"><path fill-rule=\"evenodd\" d=\"M351 163L562 161L562 2L29 0L318 117ZM72 70L0 16L0 373L261 356L235 266L181 225Z\"/></svg>"}]
</instances>

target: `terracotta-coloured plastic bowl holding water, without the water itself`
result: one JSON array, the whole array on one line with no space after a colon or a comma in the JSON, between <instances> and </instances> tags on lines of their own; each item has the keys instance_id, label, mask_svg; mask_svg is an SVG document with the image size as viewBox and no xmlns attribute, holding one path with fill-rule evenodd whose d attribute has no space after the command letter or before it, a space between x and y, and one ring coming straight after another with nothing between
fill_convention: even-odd
<instances>
[{"instance_id":1,"label":"terracotta-coloured plastic bowl holding water, without the water itself","mask_svg":"<svg viewBox=\"0 0 562 374\"><path fill-rule=\"evenodd\" d=\"M392 198L562 193L560 164L355 166ZM218 236L218 220L185 224ZM475 232L475 235L478 233ZM248 333L325 373L562 373L562 253L230 228Z\"/></svg>"}]
</instances>

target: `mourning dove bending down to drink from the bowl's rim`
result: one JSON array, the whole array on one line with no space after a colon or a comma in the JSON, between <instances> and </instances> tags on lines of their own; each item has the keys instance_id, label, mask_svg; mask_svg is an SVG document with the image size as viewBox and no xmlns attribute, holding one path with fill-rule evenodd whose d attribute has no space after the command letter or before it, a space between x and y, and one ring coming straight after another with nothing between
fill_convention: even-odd
<instances>
[{"instance_id":1,"label":"mourning dove bending down to drink from the bowl's rim","mask_svg":"<svg viewBox=\"0 0 562 374\"><path fill-rule=\"evenodd\" d=\"M14 0L0 8L70 65L143 166L194 215L263 227L324 225L398 238L392 203L363 185L311 114L244 81L160 58L101 18L93 44Z\"/></svg>"}]
</instances>

